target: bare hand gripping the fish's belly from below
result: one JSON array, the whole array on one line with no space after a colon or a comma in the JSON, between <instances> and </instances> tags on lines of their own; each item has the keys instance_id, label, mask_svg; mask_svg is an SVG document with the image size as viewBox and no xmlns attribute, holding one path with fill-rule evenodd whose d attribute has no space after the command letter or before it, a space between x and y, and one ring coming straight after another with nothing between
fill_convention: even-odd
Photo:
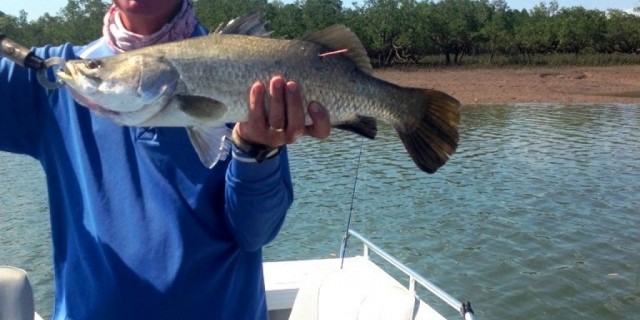
<instances>
[{"instance_id":1,"label":"bare hand gripping the fish's belly from below","mask_svg":"<svg viewBox=\"0 0 640 320\"><path fill-rule=\"evenodd\" d=\"M302 94L295 82L276 76L269 82L265 98L265 85L257 82L249 93L249 118L237 123L235 134L243 140L278 148L294 143L303 135L325 139L331 132L331 124L326 110L317 102L309 104L309 116L313 124L305 125ZM269 110L265 110L268 99Z\"/></svg>"}]
</instances>

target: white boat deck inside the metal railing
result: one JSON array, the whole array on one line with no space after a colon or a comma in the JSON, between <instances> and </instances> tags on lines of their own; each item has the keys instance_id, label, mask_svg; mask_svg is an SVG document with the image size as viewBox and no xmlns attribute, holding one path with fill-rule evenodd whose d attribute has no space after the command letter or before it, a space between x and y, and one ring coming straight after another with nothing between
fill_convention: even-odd
<instances>
[{"instance_id":1,"label":"white boat deck inside the metal railing","mask_svg":"<svg viewBox=\"0 0 640 320\"><path fill-rule=\"evenodd\" d=\"M366 314L445 319L369 259L346 258L343 269L340 263L338 258L265 262L270 319L356 319ZM378 317L382 314L388 317Z\"/></svg>"}]
</instances>

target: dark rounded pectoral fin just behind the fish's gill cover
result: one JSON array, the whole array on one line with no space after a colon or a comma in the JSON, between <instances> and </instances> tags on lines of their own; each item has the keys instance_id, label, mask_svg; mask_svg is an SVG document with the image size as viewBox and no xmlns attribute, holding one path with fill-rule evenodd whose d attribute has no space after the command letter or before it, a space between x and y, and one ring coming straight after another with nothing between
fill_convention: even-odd
<instances>
[{"instance_id":1,"label":"dark rounded pectoral fin just behind the fish's gill cover","mask_svg":"<svg viewBox=\"0 0 640 320\"><path fill-rule=\"evenodd\" d=\"M207 97L177 95L170 104L200 123L217 122L227 112L227 106Z\"/></svg>"}]
</instances>

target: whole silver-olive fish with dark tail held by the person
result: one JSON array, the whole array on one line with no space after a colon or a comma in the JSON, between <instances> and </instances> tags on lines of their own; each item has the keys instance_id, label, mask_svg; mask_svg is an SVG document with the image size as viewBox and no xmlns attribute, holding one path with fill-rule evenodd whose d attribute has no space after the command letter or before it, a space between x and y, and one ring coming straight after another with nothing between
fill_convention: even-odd
<instances>
[{"instance_id":1,"label":"whole silver-olive fish with dark tail held by the person","mask_svg":"<svg viewBox=\"0 0 640 320\"><path fill-rule=\"evenodd\" d=\"M215 128L246 121L248 89L276 75L297 83L305 106L319 102L333 128L374 139L378 121L390 124L424 172L435 173L454 154L460 123L454 97L375 77L364 46L344 25L297 39L272 38L263 26L249 13L227 32L69 60L56 73L78 103L119 125L185 127L209 168L219 153Z\"/></svg>"}]
</instances>

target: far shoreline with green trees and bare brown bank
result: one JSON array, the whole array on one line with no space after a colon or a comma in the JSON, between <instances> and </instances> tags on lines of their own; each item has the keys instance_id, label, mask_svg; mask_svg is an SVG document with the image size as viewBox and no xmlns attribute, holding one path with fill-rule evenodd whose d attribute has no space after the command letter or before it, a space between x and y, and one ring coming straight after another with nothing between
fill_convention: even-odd
<instances>
[{"instance_id":1,"label":"far shoreline with green trees and bare brown bank","mask_svg":"<svg viewBox=\"0 0 640 320\"><path fill-rule=\"evenodd\" d=\"M26 46L88 43L101 34L110 1L67 0L55 15L0 11L0 32ZM298 38L344 24L367 50L375 74L434 88L463 104L640 104L640 16L609 9L530 10L504 0L193 0L215 29L251 10L273 37ZM637 10L637 9L636 9Z\"/></svg>"}]
</instances>

